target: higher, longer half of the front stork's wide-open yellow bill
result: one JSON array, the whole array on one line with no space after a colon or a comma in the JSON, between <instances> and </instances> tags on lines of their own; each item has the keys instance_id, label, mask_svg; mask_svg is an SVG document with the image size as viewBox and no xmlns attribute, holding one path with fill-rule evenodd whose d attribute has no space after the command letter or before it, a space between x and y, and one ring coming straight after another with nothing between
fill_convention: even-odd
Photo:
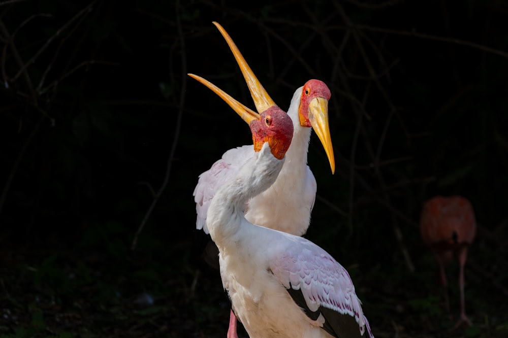
<instances>
[{"instance_id":1,"label":"higher, longer half of the front stork's wide-open yellow bill","mask_svg":"<svg viewBox=\"0 0 508 338\"><path fill-rule=\"evenodd\" d=\"M275 102L271 99L271 97L266 92L265 88L261 85L261 82L259 82L258 78L252 70L250 69L249 65L243 58L242 54L236 47L235 43L229 36L229 34L226 32L226 30L217 22L213 21L213 24L219 29L220 33L223 35L224 39L226 39L226 42L229 45L229 48L231 48L231 51L233 52L233 55L235 56L236 62L240 66L240 69L242 71L243 77L245 78L245 82L247 82L247 86L249 87L250 95L252 95L252 99L254 100L254 104L256 105L256 109L259 113L264 112L271 106L275 106Z\"/></svg>"}]
</instances>

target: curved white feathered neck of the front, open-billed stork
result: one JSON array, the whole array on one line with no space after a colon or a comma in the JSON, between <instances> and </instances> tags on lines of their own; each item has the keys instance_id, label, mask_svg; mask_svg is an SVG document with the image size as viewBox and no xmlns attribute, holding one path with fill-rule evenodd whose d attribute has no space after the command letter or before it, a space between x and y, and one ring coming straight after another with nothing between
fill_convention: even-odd
<instances>
[{"instance_id":1,"label":"curved white feathered neck of the front, open-billed stork","mask_svg":"<svg viewBox=\"0 0 508 338\"><path fill-rule=\"evenodd\" d=\"M244 217L246 202L270 187L284 164L275 158L268 143L215 193L207 213L210 236L219 249L234 241L242 224L250 224Z\"/></svg>"}]
</instances>

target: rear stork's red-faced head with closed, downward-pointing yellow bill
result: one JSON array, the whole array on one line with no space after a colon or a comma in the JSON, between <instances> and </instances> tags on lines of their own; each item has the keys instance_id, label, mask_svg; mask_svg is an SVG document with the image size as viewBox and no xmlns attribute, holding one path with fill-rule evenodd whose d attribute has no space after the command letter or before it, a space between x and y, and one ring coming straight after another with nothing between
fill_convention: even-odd
<instances>
[{"instance_id":1,"label":"rear stork's red-faced head with closed, downward-pointing yellow bill","mask_svg":"<svg viewBox=\"0 0 508 338\"><path fill-rule=\"evenodd\" d=\"M298 116L300 117L301 126L314 129L325 148L333 174L335 172L335 158L328 125L328 101L330 96L330 89L323 81L307 81L302 87Z\"/></svg>"}]
</instances>

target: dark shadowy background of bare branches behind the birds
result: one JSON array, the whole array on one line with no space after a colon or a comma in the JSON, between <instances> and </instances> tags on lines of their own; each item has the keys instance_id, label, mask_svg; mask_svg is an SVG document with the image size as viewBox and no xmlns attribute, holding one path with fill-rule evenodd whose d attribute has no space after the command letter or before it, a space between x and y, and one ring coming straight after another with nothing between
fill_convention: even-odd
<instances>
[{"instance_id":1,"label":"dark shadowy background of bare branches behind the birds","mask_svg":"<svg viewBox=\"0 0 508 338\"><path fill-rule=\"evenodd\" d=\"M375 336L508 335L505 2L26 0L0 2L0 336L226 335L192 193L251 137L186 73L253 104L212 21L282 109L330 87L337 169L313 134L306 237L348 269ZM479 227L473 326L452 332L458 267L450 318L418 230L436 194L469 198Z\"/></svg>"}]
</instances>

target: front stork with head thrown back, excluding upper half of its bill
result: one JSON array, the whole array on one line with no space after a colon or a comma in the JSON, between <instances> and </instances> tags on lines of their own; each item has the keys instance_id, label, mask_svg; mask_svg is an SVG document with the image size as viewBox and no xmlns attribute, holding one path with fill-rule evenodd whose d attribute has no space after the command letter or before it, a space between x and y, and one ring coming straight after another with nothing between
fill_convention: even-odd
<instances>
[{"instance_id":1,"label":"front stork with head thrown back, excluding upper half of its bill","mask_svg":"<svg viewBox=\"0 0 508 338\"><path fill-rule=\"evenodd\" d=\"M245 204L278 180L288 160L284 155L294 138L290 117L275 105L258 117L199 79L225 99L252 132L255 155L215 192L207 213L223 285L249 336L372 337L353 282L332 256L307 239L245 218Z\"/></svg>"}]
</instances>

